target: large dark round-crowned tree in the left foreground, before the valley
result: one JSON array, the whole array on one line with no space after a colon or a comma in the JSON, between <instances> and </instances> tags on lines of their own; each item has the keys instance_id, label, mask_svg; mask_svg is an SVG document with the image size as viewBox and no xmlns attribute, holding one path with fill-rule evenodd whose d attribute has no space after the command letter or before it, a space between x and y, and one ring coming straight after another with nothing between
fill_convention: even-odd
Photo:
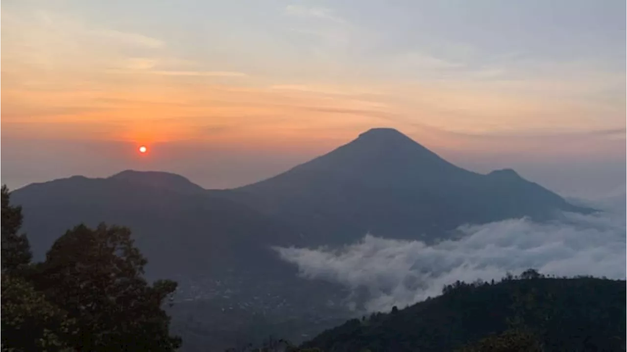
<instances>
[{"instance_id":1,"label":"large dark round-crowned tree in the left foreground, before the valley","mask_svg":"<svg viewBox=\"0 0 627 352\"><path fill-rule=\"evenodd\" d=\"M58 239L33 274L36 288L76 319L81 351L175 351L162 309L173 281L144 279L146 259L125 227L78 225Z\"/></svg>"}]
</instances>

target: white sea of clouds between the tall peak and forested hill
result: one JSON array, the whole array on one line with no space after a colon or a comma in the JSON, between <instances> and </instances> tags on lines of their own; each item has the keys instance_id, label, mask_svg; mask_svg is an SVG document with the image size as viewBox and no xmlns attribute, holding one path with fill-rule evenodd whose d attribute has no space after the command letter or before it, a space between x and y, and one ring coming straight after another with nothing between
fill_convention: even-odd
<instances>
[{"instance_id":1,"label":"white sea of clouds between the tall peak and forested hill","mask_svg":"<svg viewBox=\"0 0 627 352\"><path fill-rule=\"evenodd\" d=\"M600 214L564 214L555 222L512 219L465 225L458 240L428 245L367 235L341 248L276 248L308 279L366 291L364 309L388 311L438 296L457 280L501 279L534 268L557 276L627 278L627 193L589 205Z\"/></svg>"}]
</instances>

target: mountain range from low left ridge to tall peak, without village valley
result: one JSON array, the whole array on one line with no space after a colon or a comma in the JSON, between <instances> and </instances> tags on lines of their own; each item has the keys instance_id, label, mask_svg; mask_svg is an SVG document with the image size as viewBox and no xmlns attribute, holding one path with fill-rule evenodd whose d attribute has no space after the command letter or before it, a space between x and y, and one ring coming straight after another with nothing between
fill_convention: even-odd
<instances>
[{"instance_id":1,"label":"mountain range from low left ridge to tall peak, without village valley","mask_svg":"<svg viewBox=\"0 0 627 352\"><path fill-rule=\"evenodd\" d=\"M390 128L369 130L288 172L233 190L129 170L29 185L13 192L13 202L24 207L36 257L66 229L105 221L134 230L157 274L251 263L260 269L263 261L278 262L270 246L345 244L367 232L430 241L462 224L591 211L514 170L482 175L456 167Z\"/></svg>"}]
</instances>

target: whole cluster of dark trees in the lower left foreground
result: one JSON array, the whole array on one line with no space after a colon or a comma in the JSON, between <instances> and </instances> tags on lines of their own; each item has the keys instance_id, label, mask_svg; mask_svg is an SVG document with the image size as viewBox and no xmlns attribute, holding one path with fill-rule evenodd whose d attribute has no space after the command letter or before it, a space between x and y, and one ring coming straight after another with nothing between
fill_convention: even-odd
<instances>
[{"instance_id":1,"label":"whole cluster of dark trees in the lower left foreground","mask_svg":"<svg viewBox=\"0 0 627 352\"><path fill-rule=\"evenodd\" d=\"M162 309L176 282L143 277L129 229L78 225L31 261L22 212L0 187L0 351L176 351Z\"/></svg>"}]
</instances>

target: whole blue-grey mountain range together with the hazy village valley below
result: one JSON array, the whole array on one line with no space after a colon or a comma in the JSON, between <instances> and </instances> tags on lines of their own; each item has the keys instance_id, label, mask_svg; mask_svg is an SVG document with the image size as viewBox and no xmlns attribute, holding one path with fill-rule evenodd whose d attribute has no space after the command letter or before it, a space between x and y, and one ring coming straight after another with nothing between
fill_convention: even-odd
<instances>
[{"instance_id":1,"label":"whole blue-grey mountain range together with the hazy village valley below","mask_svg":"<svg viewBox=\"0 0 627 352\"><path fill-rule=\"evenodd\" d=\"M77 224L130 227L149 261L147 276L179 282L173 326L199 351L251 336L238 331L278 326L285 337L303 339L352 314L347 292L300 279L271 246L345 244L366 232L432 241L467 223L591 211L513 170L481 175L456 167L391 129L363 133L238 189L205 190L172 173L125 171L29 185L11 200L23 205L36 259Z\"/></svg>"}]
</instances>

